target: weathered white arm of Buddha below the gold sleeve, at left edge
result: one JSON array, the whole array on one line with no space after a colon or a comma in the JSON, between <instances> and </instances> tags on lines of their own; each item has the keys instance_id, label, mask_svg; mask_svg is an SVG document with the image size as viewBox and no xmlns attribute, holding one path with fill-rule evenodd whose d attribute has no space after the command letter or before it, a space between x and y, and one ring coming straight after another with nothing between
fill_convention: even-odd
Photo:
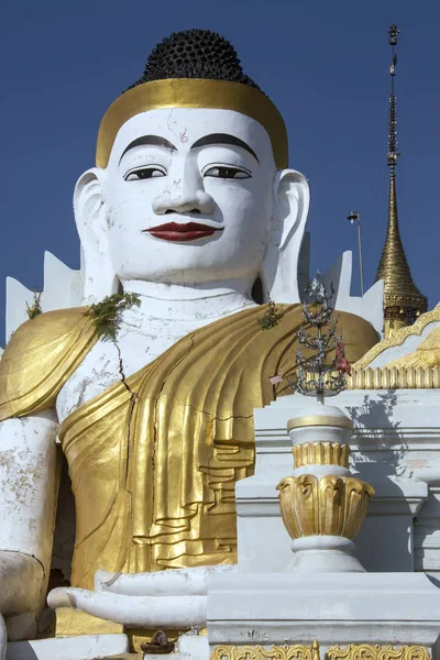
<instances>
[{"instance_id":1,"label":"weathered white arm of Buddha below the gold sleeve, at left edge","mask_svg":"<svg viewBox=\"0 0 440 660\"><path fill-rule=\"evenodd\" d=\"M58 486L56 430L52 413L0 424L0 613L4 616L35 612L44 604Z\"/></svg>"}]
</instances>

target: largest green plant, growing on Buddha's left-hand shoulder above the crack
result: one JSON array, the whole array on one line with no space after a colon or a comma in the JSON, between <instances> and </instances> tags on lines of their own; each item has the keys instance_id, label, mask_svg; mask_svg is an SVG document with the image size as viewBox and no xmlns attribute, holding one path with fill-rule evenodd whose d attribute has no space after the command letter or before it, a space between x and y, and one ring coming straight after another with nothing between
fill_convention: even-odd
<instances>
[{"instance_id":1,"label":"largest green plant, growing on Buddha's left-hand shoulder above the crack","mask_svg":"<svg viewBox=\"0 0 440 660\"><path fill-rule=\"evenodd\" d=\"M95 326L98 338L102 341L117 343L118 331L121 328L122 312L132 307L139 307L141 299L138 294L112 294L100 302L94 302L84 312Z\"/></svg>"}]
</instances>

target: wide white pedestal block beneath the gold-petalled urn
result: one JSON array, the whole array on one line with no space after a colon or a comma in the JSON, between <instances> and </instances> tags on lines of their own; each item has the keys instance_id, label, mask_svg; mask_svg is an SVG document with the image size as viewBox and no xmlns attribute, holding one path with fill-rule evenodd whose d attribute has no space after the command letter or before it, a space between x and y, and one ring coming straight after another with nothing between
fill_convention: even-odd
<instances>
[{"instance_id":1,"label":"wide white pedestal block beneath the gold-petalled urn","mask_svg":"<svg viewBox=\"0 0 440 660\"><path fill-rule=\"evenodd\" d=\"M422 573L243 574L212 578L216 645L421 645L440 635L440 588Z\"/></svg>"}]
</instances>

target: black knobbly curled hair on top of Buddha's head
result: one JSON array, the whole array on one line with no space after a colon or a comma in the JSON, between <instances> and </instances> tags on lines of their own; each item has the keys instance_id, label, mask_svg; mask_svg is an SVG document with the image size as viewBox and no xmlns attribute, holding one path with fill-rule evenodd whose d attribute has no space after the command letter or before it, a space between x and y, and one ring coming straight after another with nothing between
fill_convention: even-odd
<instances>
[{"instance_id":1,"label":"black knobbly curled hair on top of Buddha's head","mask_svg":"<svg viewBox=\"0 0 440 660\"><path fill-rule=\"evenodd\" d=\"M129 89L165 78L228 80L260 89L243 73L230 42L209 30L184 30L165 37L151 52L142 78Z\"/></svg>"}]
</instances>

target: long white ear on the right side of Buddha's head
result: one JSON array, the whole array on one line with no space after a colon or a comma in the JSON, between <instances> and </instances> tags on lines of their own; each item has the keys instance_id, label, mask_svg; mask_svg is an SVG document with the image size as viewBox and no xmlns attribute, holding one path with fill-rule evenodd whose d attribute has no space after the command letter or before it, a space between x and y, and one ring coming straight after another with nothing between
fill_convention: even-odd
<instances>
[{"instance_id":1,"label":"long white ear on the right side of Buddha's head","mask_svg":"<svg viewBox=\"0 0 440 660\"><path fill-rule=\"evenodd\" d=\"M274 197L273 231L260 273L263 292L265 299L299 302L298 260L310 205L306 177L295 169L278 172Z\"/></svg>"}]
</instances>

